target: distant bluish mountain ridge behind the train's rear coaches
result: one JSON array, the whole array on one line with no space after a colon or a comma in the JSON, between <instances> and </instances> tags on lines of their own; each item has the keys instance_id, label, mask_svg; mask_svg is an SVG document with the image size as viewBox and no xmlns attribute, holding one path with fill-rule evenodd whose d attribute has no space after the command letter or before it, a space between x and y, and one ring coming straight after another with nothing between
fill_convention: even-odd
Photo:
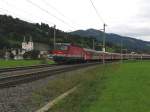
<instances>
[{"instance_id":1,"label":"distant bluish mountain ridge behind the train's rear coaches","mask_svg":"<svg viewBox=\"0 0 150 112\"><path fill-rule=\"evenodd\" d=\"M99 41L103 40L103 32L96 29L88 29L88 30L77 30L71 32L72 35L79 35L82 37L90 37L96 38ZM113 43L115 45L120 46L121 41L124 48L127 48L130 51L137 52L149 52L150 53L150 42L138 40L132 37L120 36L118 34L106 33L106 42Z\"/></svg>"}]
</instances>

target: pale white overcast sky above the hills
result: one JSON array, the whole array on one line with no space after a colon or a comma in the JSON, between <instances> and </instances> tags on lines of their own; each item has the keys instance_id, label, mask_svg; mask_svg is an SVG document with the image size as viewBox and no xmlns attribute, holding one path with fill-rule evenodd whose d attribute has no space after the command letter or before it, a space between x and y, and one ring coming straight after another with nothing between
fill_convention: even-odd
<instances>
[{"instance_id":1,"label":"pale white overcast sky above the hills","mask_svg":"<svg viewBox=\"0 0 150 112\"><path fill-rule=\"evenodd\" d=\"M150 41L150 0L93 2L108 25L106 32ZM63 31L103 27L90 0L0 0L0 14L50 26L56 24Z\"/></svg>"}]
</instances>

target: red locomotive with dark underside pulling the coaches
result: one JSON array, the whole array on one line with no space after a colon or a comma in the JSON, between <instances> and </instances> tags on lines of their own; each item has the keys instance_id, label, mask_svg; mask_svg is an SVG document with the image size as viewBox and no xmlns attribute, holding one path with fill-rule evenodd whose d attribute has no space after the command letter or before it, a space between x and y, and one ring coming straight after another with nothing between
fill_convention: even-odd
<instances>
[{"instance_id":1,"label":"red locomotive with dark underside pulling the coaches","mask_svg":"<svg viewBox=\"0 0 150 112\"><path fill-rule=\"evenodd\" d=\"M84 50L79 46L68 43L57 43L56 49L51 51L53 60L58 63L72 63L83 60Z\"/></svg>"}]
</instances>

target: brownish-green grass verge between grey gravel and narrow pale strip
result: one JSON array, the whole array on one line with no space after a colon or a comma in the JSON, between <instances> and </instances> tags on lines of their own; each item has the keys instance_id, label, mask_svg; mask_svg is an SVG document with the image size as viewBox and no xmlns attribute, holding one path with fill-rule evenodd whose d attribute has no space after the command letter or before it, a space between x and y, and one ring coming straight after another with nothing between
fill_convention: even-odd
<instances>
[{"instance_id":1,"label":"brownish-green grass verge between grey gravel and narrow pale strip","mask_svg":"<svg viewBox=\"0 0 150 112\"><path fill-rule=\"evenodd\" d=\"M37 107L39 109L48 101L55 99L57 96L80 84L87 78L85 75L88 72L91 73L92 68L84 68L55 76L48 85L32 94L31 98L27 101L29 102L29 105L27 105L26 109L30 110L30 108L33 107Z\"/></svg>"}]
</instances>

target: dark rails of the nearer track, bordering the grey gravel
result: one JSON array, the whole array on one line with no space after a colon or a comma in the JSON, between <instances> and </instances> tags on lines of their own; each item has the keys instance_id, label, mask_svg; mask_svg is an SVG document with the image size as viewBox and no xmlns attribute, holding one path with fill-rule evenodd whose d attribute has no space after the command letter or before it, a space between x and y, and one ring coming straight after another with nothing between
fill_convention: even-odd
<instances>
[{"instance_id":1,"label":"dark rails of the nearer track, bordering the grey gravel","mask_svg":"<svg viewBox=\"0 0 150 112\"><path fill-rule=\"evenodd\" d=\"M87 63L87 64L77 64L77 65L65 65L62 67L56 67L53 69L43 70L43 71L37 71L37 72L31 72L31 73L25 73L22 75L15 75L15 76L7 76L0 78L0 88L8 88L13 87L19 84L32 82L34 80L38 80L41 78L45 78L52 75L57 75L63 72L73 71L76 69L80 69L81 67L88 67L93 66L101 63Z\"/></svg>"}]
</instances>

